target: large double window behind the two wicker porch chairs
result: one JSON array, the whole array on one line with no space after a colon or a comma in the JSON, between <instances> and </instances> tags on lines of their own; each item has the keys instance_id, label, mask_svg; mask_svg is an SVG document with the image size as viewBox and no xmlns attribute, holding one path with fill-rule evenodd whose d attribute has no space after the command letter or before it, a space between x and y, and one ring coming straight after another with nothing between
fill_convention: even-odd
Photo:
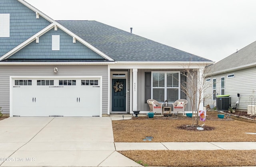
<instances>
[{"instance_id":1,"label":"large double window behind the two wicker porch chairs","mask_svg":"<svg viewBox=\"0 0 256 167\"><path fill-rule=\"evenodd\" d=\"M152 98L158 102L174 102L180 97L179 72L153 72Z\"/></svg>"}]
</instances>

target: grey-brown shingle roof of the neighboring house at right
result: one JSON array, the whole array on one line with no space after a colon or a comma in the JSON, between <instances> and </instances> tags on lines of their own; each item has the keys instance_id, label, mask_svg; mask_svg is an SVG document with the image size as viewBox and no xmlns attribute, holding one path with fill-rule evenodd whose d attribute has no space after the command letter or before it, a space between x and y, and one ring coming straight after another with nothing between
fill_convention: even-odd
<instances>
[{"instance_id":1,"label":"grey-brown shingle roof of the neighboring house at right","mask_svg":"<svg viewBox=\"0 0 256 167\"><path fill-rule=\"evenodd\" d=\"M210 68L212 72L232 69L256 63L256 41L229 55L228 57L213 64Z\"/></svg>"}]
</instances>

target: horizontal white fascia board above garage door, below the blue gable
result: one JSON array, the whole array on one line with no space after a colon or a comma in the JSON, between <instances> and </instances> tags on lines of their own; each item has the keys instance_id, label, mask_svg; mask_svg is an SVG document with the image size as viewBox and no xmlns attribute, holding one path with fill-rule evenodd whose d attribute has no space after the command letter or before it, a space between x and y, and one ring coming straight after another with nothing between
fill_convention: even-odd
<instances>
[{"instance_id":1,"label":"horizontal white fascia board above garage door, below the blue gable","mask_svg":"<svg viewBox=\"0 0 256 167\"><path fill-rule=\"evenodd\" d=\"M0 62L0 65L109 65L115 62Z\"/></svg>"}]
</instances>

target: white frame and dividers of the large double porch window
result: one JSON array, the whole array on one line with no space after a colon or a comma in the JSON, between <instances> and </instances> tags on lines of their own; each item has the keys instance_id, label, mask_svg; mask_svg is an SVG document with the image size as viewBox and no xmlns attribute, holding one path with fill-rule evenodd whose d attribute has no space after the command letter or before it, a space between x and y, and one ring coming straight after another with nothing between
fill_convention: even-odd
<instances>
[{"instance_id":1,"label":"white frame and dividers of the large double porch window","mask_svg":"<svg viewBox=\"0 0 256 167\"><path fill-rule=\"evenodd\" d=\"M164 73L164 87L153 87L153 73ZM167 73L178 73L179 81L178 87L167 87ZM167 99L167 89L178 88L178 99L180 99L180 71L152 71L151 72L151 98L153 99L153 88L164 88L164 99Z\"/></svg>"}]
</instances>

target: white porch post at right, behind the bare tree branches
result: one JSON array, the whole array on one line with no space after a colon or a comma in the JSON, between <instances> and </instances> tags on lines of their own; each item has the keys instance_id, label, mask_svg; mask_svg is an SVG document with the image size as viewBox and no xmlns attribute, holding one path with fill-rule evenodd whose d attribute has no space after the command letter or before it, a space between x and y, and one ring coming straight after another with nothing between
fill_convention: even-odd
<instances>
[{"instance_id":1,"label":"white porch post at right, behind the bare tree branches","mask_svg":"<svg viewBox=\"0 0 256 167\"><path fill-rule=\"evenodd\" d=\"M203 102L203 97L204 97L204 79L202 78L203 77L203 72L204 72L204 69L200 68L198 69L197 71L197 78L198 78L198 81L197 81L197 90L201 90L201 94L199 91L197 91L197 106L199 104L199 100L201 97L201 102L200 102L200 105L199 105L199 110L204 110L204 102Z\"/></svg>"}]
</instances>

